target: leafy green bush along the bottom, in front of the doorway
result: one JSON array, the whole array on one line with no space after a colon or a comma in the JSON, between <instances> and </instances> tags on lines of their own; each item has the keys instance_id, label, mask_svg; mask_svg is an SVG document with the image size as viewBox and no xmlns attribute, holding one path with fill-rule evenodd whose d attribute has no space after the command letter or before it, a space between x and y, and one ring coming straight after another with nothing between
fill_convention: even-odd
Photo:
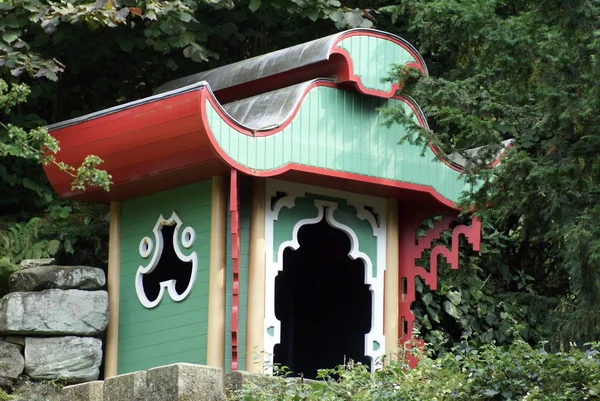
<instances>
[{"instance_id":1,"label":"leafy green bush along the bottom, in front of the doorway","mask_svg":"<svg viewBox=\"0 0 600 401\"><path fill-rule=\"evenodd\" d=\"M363 365L321 370L321 381L248 383L245 401L600 400L600 344L548 353L517 339L507 347L461 343L437 359L420 355L409 369L387 361L371 374ZM281 369L279 371L282 371ZM285 372L285 370L283 370ZM287 373L284 373L287 375Z\"/></svg>"}]
</instances>

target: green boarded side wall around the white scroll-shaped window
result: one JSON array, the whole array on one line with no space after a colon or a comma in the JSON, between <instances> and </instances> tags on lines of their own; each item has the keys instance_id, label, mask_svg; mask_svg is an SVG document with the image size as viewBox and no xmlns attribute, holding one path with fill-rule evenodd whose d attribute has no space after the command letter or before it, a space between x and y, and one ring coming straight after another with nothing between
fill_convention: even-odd
<instances>
[{"instance_id":1,"label":"green boarded side wall around the white scroll-shaped window","mask_svg":"<svg viewBox=\"0 0 600 401\"><path fill-rule=\"evenodd\" d=\"M152 229L158 217L162 214L169 218L173 211L184 226L190 225L196 231L189 250L198 255L196 283L185 300L174 302L165 292L157 307L146 309L135 292L135 274L149 259L142 259L138 246L143 237L154 238ZM119 374L175 362L206 363L210 213L210 181L123 202Z\"/></svg>"}]
</instances>

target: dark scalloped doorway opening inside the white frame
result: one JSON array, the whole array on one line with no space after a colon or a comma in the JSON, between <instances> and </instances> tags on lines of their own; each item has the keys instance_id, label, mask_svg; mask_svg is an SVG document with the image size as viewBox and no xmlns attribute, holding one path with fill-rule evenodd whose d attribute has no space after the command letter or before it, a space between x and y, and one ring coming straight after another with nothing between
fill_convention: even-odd
<instances>
[{"instance_id":1,"label":"dark scalloped doorway opening inside the white frame","mask_svg":"<svg viewBox=\"0 0 600 401\"><path fill-rule=\"evenodd\" d=\"M275 363L307 378L349 359L370 366L364 348L372 299L364 262L350 259L350 238L325 219L301 227L298 242L297 250L284 251L283 271L275 279L281 321Z\"/></svg>"}]
</instances>

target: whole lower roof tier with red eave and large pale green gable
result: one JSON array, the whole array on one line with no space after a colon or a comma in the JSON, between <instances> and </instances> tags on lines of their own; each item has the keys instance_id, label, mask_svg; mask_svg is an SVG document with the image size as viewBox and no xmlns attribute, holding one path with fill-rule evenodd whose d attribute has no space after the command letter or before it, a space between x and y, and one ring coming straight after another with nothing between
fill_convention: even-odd
<instances>
[{"instance_id":1,"label":"whole lower roof tier with red eave and large pale green gable","mask_svg":"<svg viewBox=\"0 0 600 401\"><path fill-rule=\"evenodd\" d=\"M355 109L343 106L349 113L355 110L363 114L353 117L340 114L344 99L348 99L348 104L355 105L352 106ZM184 185L226 173L233 167L261 177L285 177L293 172L295 177L302 176L307 180L321 176L362 183L371 188L419 192L447 207L454 207L456 194L461 189L457 182L460 172L434 162L433 153L429 158L423 158L419 149L402 148L404 145L396 144L399 138L385 139L390 131L381 128L376 110L386 102L406 105L421 124L426 124L416 104L408 99L360 96L339 89L331 80L312 80L226 105L218 102L207 83L200 82L50 127L63 149L58 155L59 160L78 164L88 154L96 154L105 160L102 167L113 175L115 182L110 193L99 189L83 194L71 191L69 176L53 166L46 166L45 170L61 196L96 202L127 199L140 196L144 191ZM274 105L276 110L272 111ZM236 159L233 142L227 142L223 136L229 130L233 135L231 138L246 143L248 154L250 151L260 153L257 145L260 147L261 143L289 143L290 135L296 135L292 131L300 132L302 124L310 121L306 113L313 110L318 113L315 118L320 118L325 124L324 129L304 127L304 133L301 133L305 138L302 146L309 149L320 143L323 149L335 151L336 145L329 146L331 144L327 145L326 141L331 141L334 136L339 137L337 140L345 138L349 145L342 145L341 148L350 147L338 152L338 156L352 158L355 155L362 158L363 164L366 163L363 170L351 165L338 165L335 160L333 164L325 159L322 162L305 162L301 158L294 159L291 154L289 160L283 160L285 150L281 153L281 160L273 162L273 168L266 168L266 165L252 164L252 159L245 162ZM344 124L345 129L336 128L343 128ZM353 128L357 124L363 124L367 130ZM340 137L345 135L344 132L352 135ZM367 142L361 144L362 136ZM383 140L389 143L386 142L380 150L368 145ZM367 147L368 151L365 150ZM377 153L383 151L387 155L385 160L388 164L385 166L381 164L383 154ZM280 157L276 153L274 150L274 159ZM381 165L378 166L378 163ZM411 168L418 170L413 178L410 175ZM386 169L395 169L397 174L388 174ZM425 171L429 171L429 178L425 177Z\"/></svg>"}]
</instances>

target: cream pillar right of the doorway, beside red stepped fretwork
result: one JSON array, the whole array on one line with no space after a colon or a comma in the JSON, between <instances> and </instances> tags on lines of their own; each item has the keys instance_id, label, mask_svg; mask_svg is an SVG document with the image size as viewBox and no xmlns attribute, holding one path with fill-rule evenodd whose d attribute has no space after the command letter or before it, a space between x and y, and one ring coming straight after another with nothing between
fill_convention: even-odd
<instances>
[{"instance_id":1,"label":"cream pillar right of the doorway, beside red stepped fretwork","mask_svg":"<svg viewBox=\"0 0 600 401\"><path fill-rule=\"evenodd\" d=\"M384 289L385 353L390 357L398 354L398 200L387 200L386 222L386 268Z\"/></svg>"}]
</instances>

